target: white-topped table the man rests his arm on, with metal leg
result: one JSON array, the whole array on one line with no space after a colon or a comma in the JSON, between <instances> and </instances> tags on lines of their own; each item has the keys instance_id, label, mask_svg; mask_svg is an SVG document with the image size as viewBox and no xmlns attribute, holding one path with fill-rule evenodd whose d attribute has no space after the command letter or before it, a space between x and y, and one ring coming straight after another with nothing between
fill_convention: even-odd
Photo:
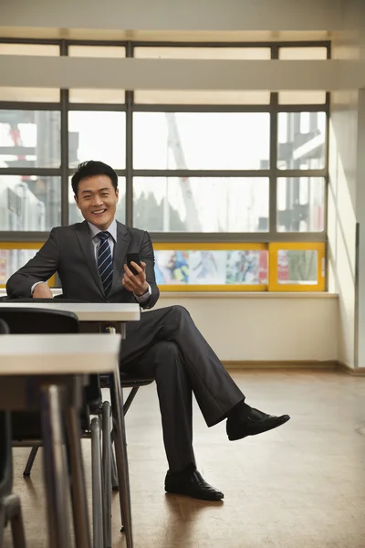
<instances>
[{"instance_id":1,"label":"white-topped table the man rests his arm on, with metal leg","mask_svg":"<svg viewBox=\"0 0 365 548\"><path fill-rule=\"evenodd\" d=\"M49 300L49 302L16 302L16 300L0 302L1 308L38 308L51 309L54 311L71 311L78 316L79 321L88 321L96 323L117 323L125 325L126 321L138 321L141 318L140 306L136 304L125 303L91 303L91 302L62 302L59 300ZM81 335L78 335L81 336ZM121 338L125 338L125 330L121 329ZM103 371L95 371L103 374ZM123 415L123 396L120 388L119 369L113 372L110 377L110 399L111 409L115 423L115 452L118 471L118 480L120 484L120 517L126 533L127 547L132 546L131 531L131 511L130 497L126 493L130 492L127 448L125 442L125 427Z\"/></svg>"}]
</instances>

